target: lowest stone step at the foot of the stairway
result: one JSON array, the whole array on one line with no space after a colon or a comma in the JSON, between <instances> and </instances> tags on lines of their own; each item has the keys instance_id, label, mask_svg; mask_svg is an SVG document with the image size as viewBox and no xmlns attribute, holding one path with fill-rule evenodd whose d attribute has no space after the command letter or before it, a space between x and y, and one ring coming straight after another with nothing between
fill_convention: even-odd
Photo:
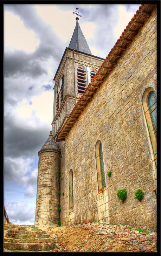
<instances>
[{"instance_id":1,"label":"lowest stone step at the foot of the stairway","mask_svg":"<svg viewBox=\"0 0 161 256\"><path fill-rule=\"evenodd\" d=\"M32 243L4 243L7 250L25 250L25 251L50 251L55 249L55 243L52 244L32 244Z\"/></svg>"}]
</instances>

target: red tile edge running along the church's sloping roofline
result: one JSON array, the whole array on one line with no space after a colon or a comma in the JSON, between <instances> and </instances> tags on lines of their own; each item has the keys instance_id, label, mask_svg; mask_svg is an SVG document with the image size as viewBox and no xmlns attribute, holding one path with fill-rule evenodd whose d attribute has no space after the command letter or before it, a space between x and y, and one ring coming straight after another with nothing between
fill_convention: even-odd
<instances>
[{"instance_id":1,"label":"red tile edge running along the church's sloping roofline","mask_svg":"<svg viewBox=\"0 0 161 256\"><path fill-rule=\"evenodd\" d=\"M114 48L116 48L116 46L119 44L119 42L121 41L122 37L126 34L126 31L129 29L129 26L133 23L133 21L136 19L136 17L138 16L139 12L142 10L144 6L144 3L141 3L141 6L139 6L139 10L136 11L136 14L134 14L134 16L132 17L131 21L129 21L128 25L126 26L126 29L124 29L124 31L122 32L122 34L120 35L119 39L117 39L117 42L115 43L115 45L113 46L113 48L111 49L111 51L109 52L109 54L107 55L106 59L104 60L104 62L102 63L102 65L100 66L99 70L97 71L97 73L95 74L95 76L93 77L93 79L91 80L91 82L89 83L89 85L87 86L86 90L84 91L84 93L82 94L81 98L77 101L75 107L73 108L72 112L70 113L70 115L68 116L66 122L64 123L64 125L62 126L61 130L59 131L58 135L61 134L63 128L66 126L66 124L68 123L70 117L73 115L76 107L79 105L79 103L81 102L83 96L86 94L86 92L88 91L88 89L91 87L91 85L93 84L93 82L96 80L97 76L99 75L100 71L102 70L102 68L105 66L104 64L106 64L106 62L108 61L109 57L111 56ZM58 137L57 135L57 137Z\"/></svg>"}]
</instances>

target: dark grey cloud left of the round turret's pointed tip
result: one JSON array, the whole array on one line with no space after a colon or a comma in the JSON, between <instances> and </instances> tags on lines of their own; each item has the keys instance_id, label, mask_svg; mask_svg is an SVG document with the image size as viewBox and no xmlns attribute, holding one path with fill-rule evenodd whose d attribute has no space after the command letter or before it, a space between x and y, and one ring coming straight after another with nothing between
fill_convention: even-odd
<instances>
[{"instance_id":1,"label":"dark grey cloud left of the round turret's pointed tip","mask_svg":"<svg viewBox=\"0 0 161 256\"><path fill-rule=\"evenodd\" d=\"M32 157L42 148L46 142L51 125L41 122L36 116L32 116L35 121L34 127L28 125L30 118L26 118L19 123L12 114L8 114L4 119L4 156L10 157Z\"/></svg>"}]
</instances>

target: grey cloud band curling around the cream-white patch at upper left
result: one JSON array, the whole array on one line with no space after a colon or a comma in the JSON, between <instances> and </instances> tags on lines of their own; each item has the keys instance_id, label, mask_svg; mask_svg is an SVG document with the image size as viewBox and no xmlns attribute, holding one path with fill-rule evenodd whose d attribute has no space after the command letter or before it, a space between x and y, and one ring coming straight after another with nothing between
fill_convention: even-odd
<instances>
[{"instance_id":1,"label":"grey cloud band curling around the cream-white patch at upper left","mask_svg":"<svg viewBox=\"0 0 161 256\"><path fill-rule=\"evenodd\" d=\"M65 43L55 34L51 25L46 24L37 14L32 4L5 4L5 11L11 11L19 16L28 30L35 32L40 44L34 52L23 50L4 52L4 77L17 78L27 75L35 78L47 74L43 62L53 58L59 65Z\"/></svg>"}]
</instances>

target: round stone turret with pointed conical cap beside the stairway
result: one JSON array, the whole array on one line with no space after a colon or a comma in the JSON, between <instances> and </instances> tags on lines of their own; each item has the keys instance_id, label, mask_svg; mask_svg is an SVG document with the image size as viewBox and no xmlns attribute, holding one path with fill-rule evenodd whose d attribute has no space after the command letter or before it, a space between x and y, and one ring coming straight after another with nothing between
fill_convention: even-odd
<instances>
[{"instance_id":1,"label":"round stone turret with pointed conical cap beside the stairway","mask_svg":"<svg viewBox=\"0 0 161 256\"><path fill-rule=\"evenodd\" d=\"M35 225L58 226L60 150L53 139L52 131L38 155Z\"/></svg>"}]
</instances>

